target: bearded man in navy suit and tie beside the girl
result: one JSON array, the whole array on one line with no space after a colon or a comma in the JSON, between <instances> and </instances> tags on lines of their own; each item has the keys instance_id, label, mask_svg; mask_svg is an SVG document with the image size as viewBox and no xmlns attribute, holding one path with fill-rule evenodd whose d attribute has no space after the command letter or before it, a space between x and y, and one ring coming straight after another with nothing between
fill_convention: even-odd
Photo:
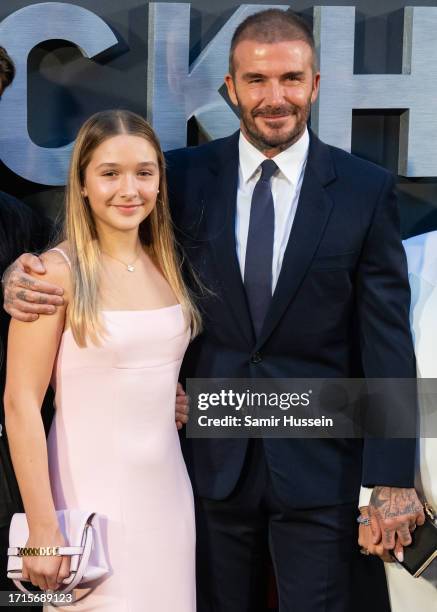
<instances>
[{"instance_id":1,"label":"bearded man in navy suit and tie beside the girl","mask_svg":"<svg viewBox=\"0 0 437 612\"><path fill-rule=\"evenodd\" d=\"M209 289L185 377L415 376L393 179L307 129L319 79L305 23L250 17L226 77L241 130L167 154L178 239ZM17 316L24 263L37 265L19 260L6 290ZM381 554L423 521L414 441L186 439L184 451L199 612L265 610L268 549L281 612L351 610L360 484L374 487Z\"/></svg>"}]
</instances>

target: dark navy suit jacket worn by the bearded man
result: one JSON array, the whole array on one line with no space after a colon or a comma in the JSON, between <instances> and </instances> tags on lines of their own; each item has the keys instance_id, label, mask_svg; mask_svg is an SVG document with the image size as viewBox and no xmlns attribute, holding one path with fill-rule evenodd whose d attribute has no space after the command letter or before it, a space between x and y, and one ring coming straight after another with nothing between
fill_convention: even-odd
<instances>
[{"instance_id":1,"label":"dark navy suit jacket worn by the bearded man","mask_svg":"<svg viewBox=\"0 0 437 612\"><path fill-rule=\"evenodd\" d=\"M282 269L255 338L238 265L236 133L166 154L176 235L211 294L183 377L416 375L410 292L393 177L311 134ZM245 439L185 439L195 492L223 499ZM264 439L276 492L292 507L356 501L365 486L413 486L414 440Z\"/></svg>"}]
</instances>

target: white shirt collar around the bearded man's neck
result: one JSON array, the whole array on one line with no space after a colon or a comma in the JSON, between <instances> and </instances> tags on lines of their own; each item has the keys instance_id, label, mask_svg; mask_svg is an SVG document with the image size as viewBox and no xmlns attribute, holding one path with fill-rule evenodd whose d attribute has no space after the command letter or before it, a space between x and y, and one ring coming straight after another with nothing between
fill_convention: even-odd
<instances>
[{"instance_id":1,"label":"white shirt collar around the bearded man's neck","mask_svg":"<svg viewBox=\"0 0 437 612\"><path fill-rule=\"evenodd\" d=\"M309 146L310 136L306 128L297 142L272 158L284 177L294 186L299 182L302 168L308 157ZM247 183L267 157L258 151L241 131L238 149L242 178Z\"/></svg>"}]
</instances>

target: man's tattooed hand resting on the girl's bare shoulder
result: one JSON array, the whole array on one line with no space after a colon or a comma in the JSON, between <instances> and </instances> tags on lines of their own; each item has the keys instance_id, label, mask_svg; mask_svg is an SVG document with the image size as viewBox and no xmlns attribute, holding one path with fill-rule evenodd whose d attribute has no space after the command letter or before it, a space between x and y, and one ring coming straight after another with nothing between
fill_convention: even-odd
<instances>
[{"instance_id":1,"label":"man's tattooed hand resting on the girl's bare shoulder","mask_svg":"<svg viewBox=\"0 0 437 612\"><path fill-rule=\"evenodd\" d=\"M40 314L53 314L62 306L64 291L29 274L45 274L44 264L35 255L24 253L5 271L2 279L4 308L19 321L35 321Z\"/></svg>"}]
</instances>

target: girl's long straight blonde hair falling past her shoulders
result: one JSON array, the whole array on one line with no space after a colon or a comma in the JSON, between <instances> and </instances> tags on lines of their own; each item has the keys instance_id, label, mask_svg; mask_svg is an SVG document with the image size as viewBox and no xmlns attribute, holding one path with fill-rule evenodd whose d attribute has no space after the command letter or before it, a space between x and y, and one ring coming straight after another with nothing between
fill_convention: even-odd
<instances>
[{"instance_id":1,"label":"girl's long straight blonde hair falling past her shoulders","mask_svg":"<svg viewBox=\"0 0 437 612\"><path fill-rule=\"evenodd\" d=\"M99 315L101 251L92 211L82 190L93 152L102 142L119 134L140 136L155 149L159 193L152 212L140 224L139 237L181 303L194 337L201 329L201 318L182 279L170 218L164 155L147 121L126 110L103 111L90 117L79 131L71 157L64 224L72 265L71 331L82 347L88 339L99 344L105 332Z\"/></svg>"}]
</instances>

